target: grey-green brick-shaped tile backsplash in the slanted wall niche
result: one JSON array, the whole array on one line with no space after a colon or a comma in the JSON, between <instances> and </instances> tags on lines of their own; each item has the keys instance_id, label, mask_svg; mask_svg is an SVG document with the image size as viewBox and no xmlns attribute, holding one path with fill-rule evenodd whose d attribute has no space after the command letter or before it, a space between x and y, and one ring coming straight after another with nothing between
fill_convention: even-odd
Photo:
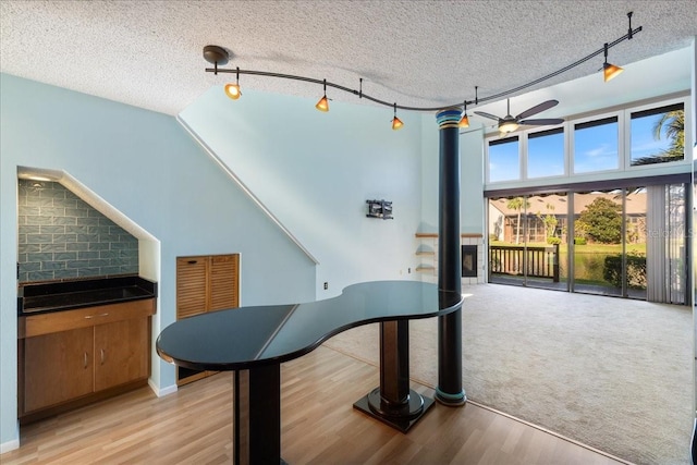
<instances>
[{"instance_id":1,"label":"grey-green brick-shaped tile backsplash in the slanted wall niche","mask_svg":"<svg viewBox=\"0 0 697 465\"><path fill-rule=\"evenodd\" d=\"M138 272L138 240L60 183L20 180L19 281Z\"/></svg>"}]
</instances>

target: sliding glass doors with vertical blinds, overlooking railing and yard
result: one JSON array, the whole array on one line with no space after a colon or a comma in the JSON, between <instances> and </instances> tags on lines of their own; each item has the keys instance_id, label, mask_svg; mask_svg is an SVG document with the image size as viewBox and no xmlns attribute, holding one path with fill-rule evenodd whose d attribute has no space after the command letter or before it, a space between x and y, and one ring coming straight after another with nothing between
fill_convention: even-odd
<instances>
[{"instance_id":1,"label":"sliding glass doors with vertical blinds, overlooking railing and yard","mask_svg":"<svg viewBox=\"0 0 697 465\"><path fill-rule=\"evenodd\" d=\"M489 282L684 304L686 187L490 198Z\"/></svg>"}]
</instances>

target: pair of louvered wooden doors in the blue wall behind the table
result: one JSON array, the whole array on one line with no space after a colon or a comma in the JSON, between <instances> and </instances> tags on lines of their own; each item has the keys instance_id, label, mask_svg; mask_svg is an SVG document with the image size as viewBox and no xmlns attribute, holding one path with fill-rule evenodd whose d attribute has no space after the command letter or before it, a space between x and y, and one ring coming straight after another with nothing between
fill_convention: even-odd
<instances>
[{"instance_id":1,"label":"pair of louvered wooden doors in the blue wall behind the table","mask_svg":"<svg viewBox=\"0 0 697 465\"><path fill-rule=\"evenodd\" d=\"M199 255L176 259L176 319L240 306L240 254ZM176 384L215 371L176 368Z\"/></svg>"}]
</instances>

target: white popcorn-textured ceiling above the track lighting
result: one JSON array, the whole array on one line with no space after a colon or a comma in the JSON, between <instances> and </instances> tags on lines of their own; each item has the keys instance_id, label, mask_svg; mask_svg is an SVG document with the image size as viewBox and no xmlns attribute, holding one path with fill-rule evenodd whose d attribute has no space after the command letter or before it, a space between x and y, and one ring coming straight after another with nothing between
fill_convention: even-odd
<instances>
[{"instance_id":1,"label":"white popcorn-textured ceiling above the track lighting","mask_svg":"<svg viewBox=\"0 0 697 465\"><path fill-rule=\"evenodd\" d=\"M688 1L7 1L0 70L168 114L232 75L205 73L203 47L228 66L327 78L404 106L487 97L610 50L626 65L688 47ZM597 74L602 56L534 88ZM625 73L626 75L627 73ZM638 76L637 76L638 77ZM244 88L318 98L317 84L241 76ZM528 89L529 90L529 89ZM526 90L527 91L527 90ZM328 89L334 100L356 102ZM512 109L515 114L515 110Z\"/></svg>"}]
</instances>

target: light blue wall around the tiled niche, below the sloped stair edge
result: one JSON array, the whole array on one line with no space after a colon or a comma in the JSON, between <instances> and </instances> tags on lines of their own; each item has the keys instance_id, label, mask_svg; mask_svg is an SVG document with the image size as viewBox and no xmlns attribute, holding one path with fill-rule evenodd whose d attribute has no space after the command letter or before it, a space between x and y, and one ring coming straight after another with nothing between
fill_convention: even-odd
<instances>
[{"instance_id":1,"label":"light blue wall around the tiled niche, below the sloped stair edge","mask_svg":"<svg viewBox=\"0 0 697 465\"><path fill-rule=\"evenodd\" d=\"M174 320L178 256L241 253L243 305L315 297L311 260L174 118L7 74L0 100L0 444L19 438L17 166L64 170L160 241L156 332ZM170 365L152 374L174 384Z\"/></svg>"}]
</instances>

